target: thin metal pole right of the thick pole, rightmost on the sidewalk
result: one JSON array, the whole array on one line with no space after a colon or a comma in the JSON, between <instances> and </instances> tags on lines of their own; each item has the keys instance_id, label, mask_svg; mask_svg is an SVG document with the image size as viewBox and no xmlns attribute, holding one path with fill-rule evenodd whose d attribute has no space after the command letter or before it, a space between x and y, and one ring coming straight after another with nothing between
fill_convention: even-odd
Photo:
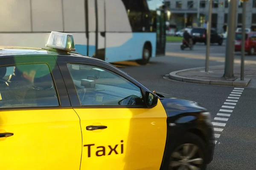
<instances>
[{"instance_id":1,"label":"thin metal pole right of the thick pole, rightmost on the sidewalk","mask_svg":"<svg viewBox=\"0 0 256 170\"><path fill-rule=\"evenodd\" d=\"M242 55L241 55L241 80L244 80L244 41L245 41L245 12L246 12L246 1L243 2L243 14L242 14Z\"/></svg>"}]
</instances>

